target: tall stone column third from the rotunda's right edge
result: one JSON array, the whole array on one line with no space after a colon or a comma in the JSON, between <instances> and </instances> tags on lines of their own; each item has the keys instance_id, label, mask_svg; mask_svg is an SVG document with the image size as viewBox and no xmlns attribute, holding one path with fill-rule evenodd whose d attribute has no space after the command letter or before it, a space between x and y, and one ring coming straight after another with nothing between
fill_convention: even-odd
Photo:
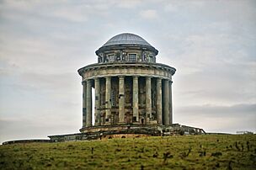
<instances>
[{"instance_id":1,"label":"tall stone column third from the rotunda's right edge","mask_svg":"<svg viewBox=\"0 0 256 170\"><path fill-rule=\"evenodd\" d=\"M162 78L157 78L157 124L163 125L162 120Z\"/></svg>"}]
</instances>

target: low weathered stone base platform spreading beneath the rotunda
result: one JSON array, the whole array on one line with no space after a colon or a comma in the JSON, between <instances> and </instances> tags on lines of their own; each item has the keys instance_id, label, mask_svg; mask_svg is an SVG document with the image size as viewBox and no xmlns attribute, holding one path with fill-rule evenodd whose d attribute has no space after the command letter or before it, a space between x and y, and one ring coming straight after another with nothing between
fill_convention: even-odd
<instances>
[{"instance_id":1,"label":"low weathered stone base platform spreading beneath the rotunda","mask_svg":"<svg viewBox=\"0 0 256 170\"><path fill-rule=\"evenodd\" d=\"M101 125L83 127L82 133L48 135L51 141L83 141L157 135L205 135L205 130L185 125Z\"/></svg>"}]
</instances>

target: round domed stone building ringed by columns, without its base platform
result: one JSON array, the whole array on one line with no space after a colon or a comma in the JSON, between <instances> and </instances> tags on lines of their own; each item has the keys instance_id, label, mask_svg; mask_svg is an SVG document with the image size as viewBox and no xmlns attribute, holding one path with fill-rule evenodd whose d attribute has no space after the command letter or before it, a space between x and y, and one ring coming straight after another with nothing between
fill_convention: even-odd
<instances>
[{"instance_id":1,"label":"round domed stone building ringed by columns, without its base platform","mask_svg":"<svg viewBox=\"0 0 256 170\"><path fill-rule=\"evenodd\" d=\"M81 132L109 125L173 124L172 77L176 70L157 63L156 48L138 35L124 33L95 53L98 63L78 70L83 80Z\"/></svg>"}]
</instances>

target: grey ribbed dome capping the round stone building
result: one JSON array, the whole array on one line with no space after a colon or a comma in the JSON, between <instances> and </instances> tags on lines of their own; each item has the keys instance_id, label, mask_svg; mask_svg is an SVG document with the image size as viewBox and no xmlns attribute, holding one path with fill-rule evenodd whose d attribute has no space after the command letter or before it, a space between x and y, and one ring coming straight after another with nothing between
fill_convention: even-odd
<instances>
[{"instance_id":1,"label":"grey ribbed dome capping the round stone building","mask_svg":"<svg viewBox=\"0 0 256 170\"><path fill-rule=\"evenodd\" d=\"M123 33L120 35L115 35L110 40L108 40L102 47L109 45L150 45L146 40L142 39L139 35L134 35L131 33Z\"/></svg>"}]
</instances>

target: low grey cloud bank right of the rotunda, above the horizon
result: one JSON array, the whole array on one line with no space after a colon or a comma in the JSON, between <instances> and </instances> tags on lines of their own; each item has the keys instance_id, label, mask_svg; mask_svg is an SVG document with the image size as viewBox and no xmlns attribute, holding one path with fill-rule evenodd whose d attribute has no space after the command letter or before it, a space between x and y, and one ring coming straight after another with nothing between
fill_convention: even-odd
<instances>
[{"instance_id":1,"label":"low grey cloud bank right of the rotunda, above the horizon","mask_svg":"<svg viewBox=\"0 0 256 170\"><path fill-rule=\"evenodd\" d=\"M174 117L181 125L235 133L237 130L256 130L255 110L256 104L190 105L174 109Z\"/></svg>"}]
</instances>

